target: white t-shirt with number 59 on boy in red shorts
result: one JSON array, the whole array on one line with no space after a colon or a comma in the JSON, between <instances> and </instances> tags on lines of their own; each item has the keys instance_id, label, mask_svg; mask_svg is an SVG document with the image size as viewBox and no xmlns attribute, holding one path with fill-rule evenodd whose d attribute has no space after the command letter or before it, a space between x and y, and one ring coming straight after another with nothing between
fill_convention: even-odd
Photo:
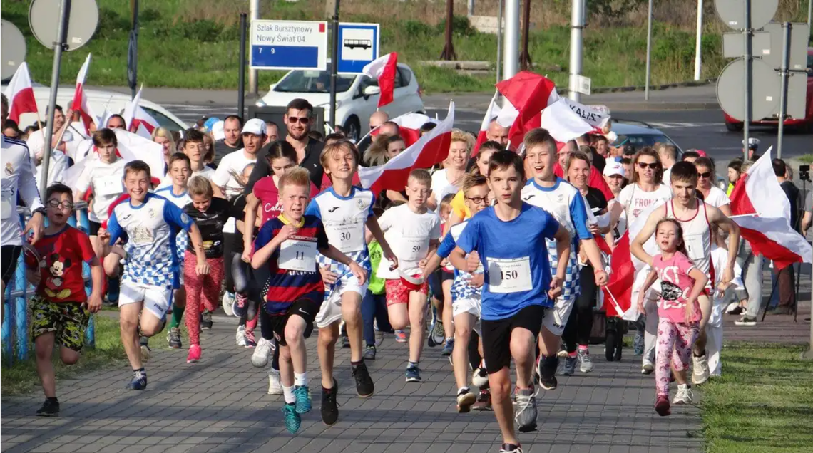
<instances>
[{"instance_id":1,"label":"white t-shirt with number 59 on boy in red shorts","mask_svg":"<svg viewBox=\"0 0 813 453\"><path fill-rule=\"evenodd\" d=\"M406 274L418 274L418 262L426 257L429 241L441 239L441 218L430 210L417 214L407 204L387 209L378 224L398 257L398 269ZM378 278L398 278L398 270L389 270L390 265L388 259L381 257Z\"/></svg>"}]
</instances>

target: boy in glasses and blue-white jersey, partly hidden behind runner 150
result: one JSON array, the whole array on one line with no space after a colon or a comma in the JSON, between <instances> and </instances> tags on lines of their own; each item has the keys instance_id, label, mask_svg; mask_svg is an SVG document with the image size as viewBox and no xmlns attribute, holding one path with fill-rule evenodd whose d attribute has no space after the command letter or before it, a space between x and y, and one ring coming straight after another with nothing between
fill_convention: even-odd
<instances>
[{"instance_id":1,"label":"boy in glasses and blue-white jersey, partly hidden behind runner 150","mask_svg":"<svg viewBox=\"0 0 813 453\"><path fill-rule=\"evenodd\" d=\"M489 203L489 186L485 176L467 175L466 179L463 180L463 197L465 198L466 207L472 214L485 209ZM424 277L432 274L437 269L437 266L441 264L442 259L449 257L452 250L457 246L456 241L463 233L467 223L468 221L461 222L450 228L437 248L437 252L424 267ZM476 253L472 253L468 259L479 261ZM480 321L480 287L483 285L483 278L482 265L474 274L465 270L454 270L454 280L451 287L452 319L454 321L452 367L454 368L454 380L458 385L458 412L469 412L472 405L478 401L476 395L472 393L472 390L467 385L469 365L467 352L469 342L472 341L472 330L478 330L478 334L480 333L479 329L476 329L476 324ZM480 354L482 354L483 345L481 340L478 343ZM485 377L485 369L483 369L482 375L479 370L478 368L475 372L476 377ZM485 383L478 382L476 385L480 387L480 401L487 406L491 400L487 381ZM480 408L480 406L478 405L477 408Z\"/></svg>"}]
</instances>

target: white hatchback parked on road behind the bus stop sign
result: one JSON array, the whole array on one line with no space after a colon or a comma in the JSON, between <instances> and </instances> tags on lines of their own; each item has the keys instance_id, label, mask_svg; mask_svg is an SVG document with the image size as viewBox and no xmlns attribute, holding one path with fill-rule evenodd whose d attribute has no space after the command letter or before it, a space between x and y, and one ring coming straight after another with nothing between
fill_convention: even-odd
<instances>
[{"instance_id":1,"label":"white hatchback parked on road behind the bus stop sign","mask_svg":"<svg viewBox=\"0 0 813 453\"><path fill-rule=\"evenodd\" d=\"M258 106L285 107L298 97L312 106L324 108L324 122L330 123L330 67L326 71L293 70L271 85ZM378 81L365 75L339 74L336 80L336 124L344 127L348 137L359 140L367 133L370 115L377 110L380 89ZM398 63L393 101L382 107L390 118L406 113L424 113L424 101L415 73Z\"/></svg>"}]
</instances>

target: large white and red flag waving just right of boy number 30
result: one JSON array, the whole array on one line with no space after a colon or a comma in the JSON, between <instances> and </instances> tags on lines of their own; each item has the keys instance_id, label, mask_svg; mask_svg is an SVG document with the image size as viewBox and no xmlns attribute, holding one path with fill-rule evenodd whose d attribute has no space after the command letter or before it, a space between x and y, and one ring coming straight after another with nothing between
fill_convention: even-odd
<instances>
[{"instance_id":1,"label":"large white and red flag waving just right of boy number 30","mask_svg":"<svg viewBox=\"0 0 813 453\"><path fill-rule=\"evenodd\" d=\"M402 191L406 179L415 168L437 165L449 155L452 127L454 126L454 102L449 103L449 114L433 130L420 137L414 145L380 166L359 167L359 179L363 188L372 192L382 190Z\"/></svg>"}]
</instances>

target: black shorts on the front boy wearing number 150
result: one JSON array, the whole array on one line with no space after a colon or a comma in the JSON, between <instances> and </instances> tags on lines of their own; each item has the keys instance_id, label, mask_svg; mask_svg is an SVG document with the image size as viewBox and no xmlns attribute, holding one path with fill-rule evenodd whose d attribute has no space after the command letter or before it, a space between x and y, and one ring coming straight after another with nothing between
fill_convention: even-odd
<instances>
[{"instance_id":1,"label":"black shorts on the front boy wearing number 150","mask_svg":"<svg viewBox=\"0 0 813 453\"><path fill-rule=\"evenodd\" d=\"M536 339L542 328L545 307L529 305L512 317L496 321L480 321L483 339L483 358L486 373L497 373L504 367L511 367L511 330L517 327L530 330Z\"/></svg>"}]
</instances>

